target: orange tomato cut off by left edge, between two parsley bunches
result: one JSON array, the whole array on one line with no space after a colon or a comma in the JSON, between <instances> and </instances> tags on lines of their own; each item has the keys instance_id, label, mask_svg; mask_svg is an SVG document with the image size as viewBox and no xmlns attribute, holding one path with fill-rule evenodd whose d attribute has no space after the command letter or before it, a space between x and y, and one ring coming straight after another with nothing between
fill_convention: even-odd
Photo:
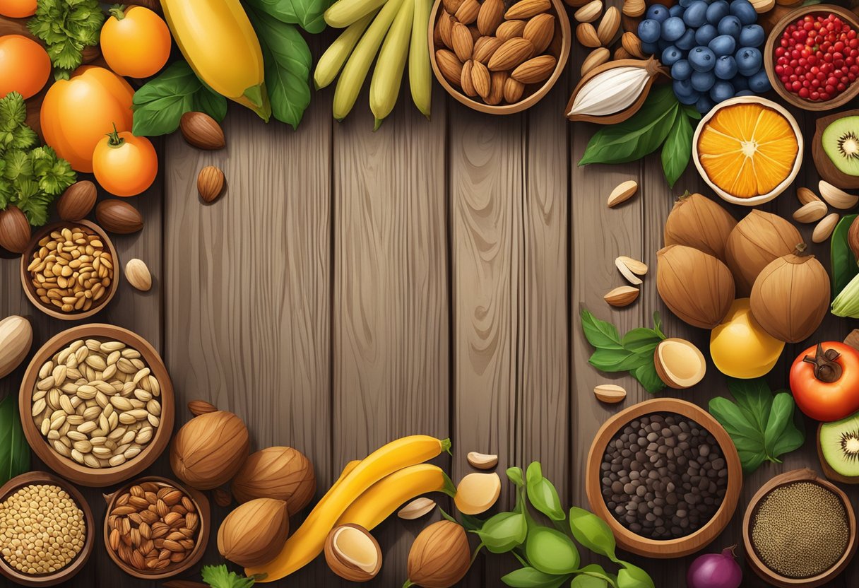
<instances>
[{"instance_id":1,"label":"orange tomato cut off by left edge, between two parsley bunches","mask_svg":"<svg viewBox=\"0 0 859 588\"><path fill-rule=\"evenodd\" d=\"M39 43L21 34L0 37L0 98L18 92L39 94L51 75L51 58Z\"/></svg>"}]
</instances>

